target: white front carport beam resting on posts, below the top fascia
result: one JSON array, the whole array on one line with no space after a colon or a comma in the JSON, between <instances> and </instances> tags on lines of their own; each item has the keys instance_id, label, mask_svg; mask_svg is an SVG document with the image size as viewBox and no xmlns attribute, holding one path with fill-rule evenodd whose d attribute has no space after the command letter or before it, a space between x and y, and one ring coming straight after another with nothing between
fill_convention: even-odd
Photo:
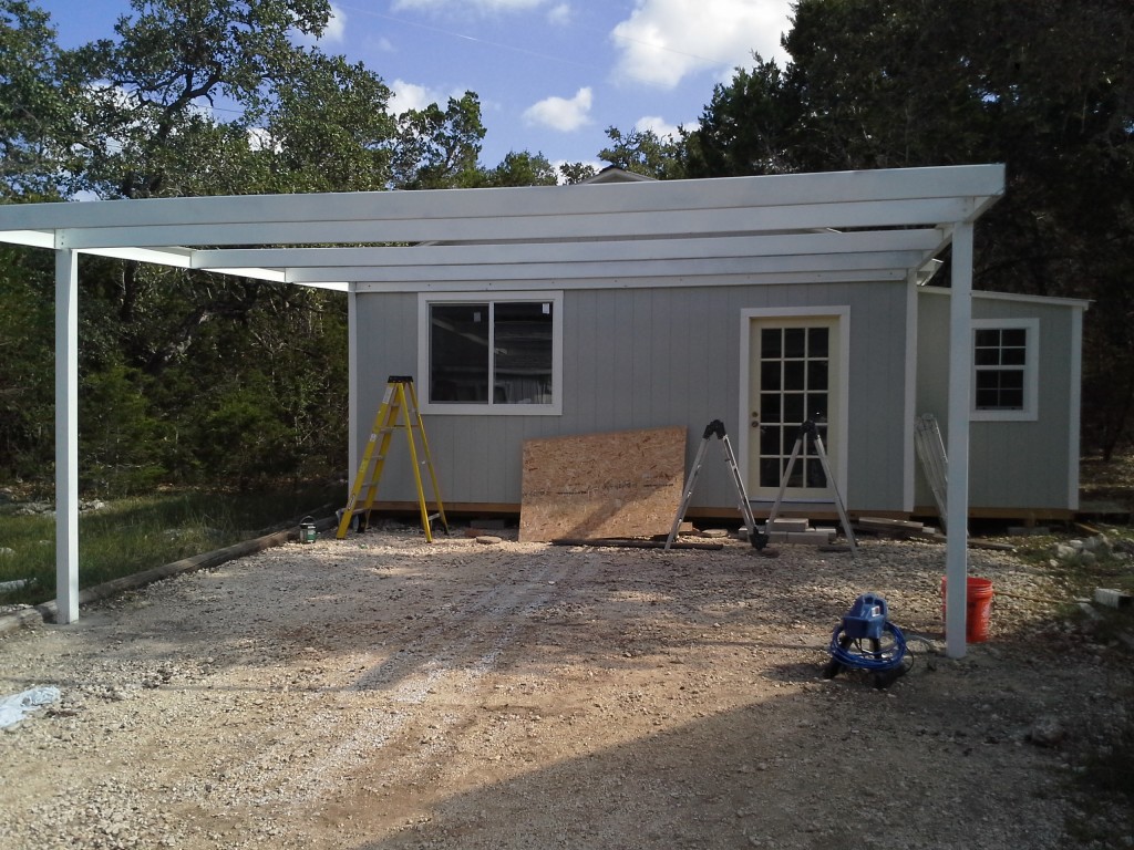
<instances>
[{"instance_id":1,"label":"white front carport beam resting on posts, below the top fascia","mask_svg":"<svg viewBox=\"0 0 1134 850\"><path fill-rule=\"evenodd\" d=\"M631 188L652 184L628 184ZM604 189L596 189L604 190ZM476 192L476 189L458 189ZM591 215L507 214L399 221L312 220L254 224L155 224L64 230L58 247L146 247L166 245L340 245L374 243L522 243L642 237L712 237L761 232L871 227L936 226L964 220L971 198L827 203L793 206L595 213Z\"/></svg>"}]
</instances>

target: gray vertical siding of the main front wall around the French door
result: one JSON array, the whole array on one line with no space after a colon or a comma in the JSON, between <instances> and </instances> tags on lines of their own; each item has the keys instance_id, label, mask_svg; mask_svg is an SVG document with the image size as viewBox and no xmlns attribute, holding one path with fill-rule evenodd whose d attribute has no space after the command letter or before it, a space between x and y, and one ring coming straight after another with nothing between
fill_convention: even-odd
<instances>
[{"instance_id":1,"label":"gray vertical siding of the main front wall around the French door","mask_svg":"<svg viewBox=\"0 0 1134 850\"><path fill-rule=\"evenodd\" d=\"M852 508L899 510L905 368L903 284L659 287L566 290L561 416L425 417L448 502L518 503L522 447L533 437L684 425L691 464L704 426L722 419L739 447L741 313L748 308L849 306L847 390ZM417 296L358 296L359 433L365 441L387 375L413 374ZM362 443L359 443L362 444ZM414 496L404 441L381 498ZM712 447L693 504L734 509L731 478Z\"/></svg>"}]
</instances>

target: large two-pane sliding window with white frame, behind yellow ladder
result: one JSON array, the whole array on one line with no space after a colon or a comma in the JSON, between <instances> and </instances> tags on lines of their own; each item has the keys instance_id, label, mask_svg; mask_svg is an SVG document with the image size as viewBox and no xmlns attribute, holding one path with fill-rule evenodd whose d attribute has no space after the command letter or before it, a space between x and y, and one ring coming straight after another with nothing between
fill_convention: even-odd
<instances>
[{"instance_id":1,"label":"large two-pane sliding window with white frame, behind yellow ladder","mask_svg":"<svg viewBox=\"0 0 1134 850\"><path fill-rule=\"evenodd\" d=\"M562 411L560 292L422 294L423 413Z\"/></svg>"}]
</instances>

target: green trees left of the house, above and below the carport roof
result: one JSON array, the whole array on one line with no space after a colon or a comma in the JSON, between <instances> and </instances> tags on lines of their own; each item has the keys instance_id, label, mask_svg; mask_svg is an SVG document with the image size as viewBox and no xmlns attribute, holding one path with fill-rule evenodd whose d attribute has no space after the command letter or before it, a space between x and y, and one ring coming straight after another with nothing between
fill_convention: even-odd
<instances>
[{"instance_id":1,"label":"green trees left of the house, above and below the carport roof","mask_svg":"<svg viewBox=\"0 0 1134 850\"><path fill-rule=\"evenodd\" d=\"M473 93L400 116L324 53L327 0L132 0L113 37L56 44L0 0L0 202L555 182L542 155L479 163ZM81 483L252 486L339 474L345 298L84 256ZM0 248L0 475L50 481L53 270Z\"/></svg>"}]
</instances>

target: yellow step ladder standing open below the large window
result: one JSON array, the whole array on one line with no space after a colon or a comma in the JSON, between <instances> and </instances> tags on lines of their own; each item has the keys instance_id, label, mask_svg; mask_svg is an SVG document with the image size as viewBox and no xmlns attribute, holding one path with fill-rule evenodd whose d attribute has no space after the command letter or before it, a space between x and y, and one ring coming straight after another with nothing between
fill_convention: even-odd
<instances>
[{"instance_id":1,"label":"yellow step ladder standing open below the large window","mask_svg":"<svg viewBox=\"0 0 1134 850\"><path fill-rule=\"evenodd\" d=\"M347 536L355 516L359 517L359 529L365 528L365 521L370 518L371 505L374 504L374 496L378 495L378 482L382 477L382 468L386 466L387 453L390 450L390 442L393 432L399 428L406 432L406 440L409 442L409 460L414 468L414 482L417 485L417 504L421 508L422 528L425 532L425 539L433 542L431 524L434 519L440 519L445 526L445 533L449 534L449 520L445 516L445 505L441 504L441 491L437 485L437 474L433 471L433 458L429 451L429 440L425 439L425 426L422 424L422 416L417 411L417 393L414 391L414 379L408 375L390 375L386 383L386 394L382 397L382 406L374 417L374 427L371 428L370 440L366 442L366 450L363 452L362 462L358 465L358 473L355 475L354 484L350 486L350 499L347 507L339 516L339 530L336 535L339 539ZM416 432L416 435L415 435ZM421 457L418 460L417 437L421 437ZM378 453L374 453L374 449ZM429 470L430 484L433 487L433 501L437 504L437 512L430 513L425 503L425 490L422 486L421 468ZM362 499L359 500L359 496Z\"/></svg>"}]
</instances>

